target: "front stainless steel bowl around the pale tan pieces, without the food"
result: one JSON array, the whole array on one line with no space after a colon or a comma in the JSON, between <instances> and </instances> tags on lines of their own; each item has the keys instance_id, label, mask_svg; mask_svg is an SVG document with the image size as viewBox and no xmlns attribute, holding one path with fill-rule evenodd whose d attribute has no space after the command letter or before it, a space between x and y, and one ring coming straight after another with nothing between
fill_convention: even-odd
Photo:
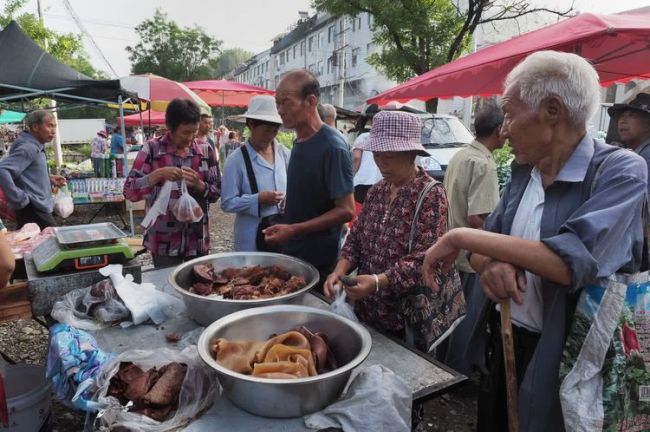
<instances>
[{"instance_id":1,"label":"front stainless steel bowl around the pale tan pieces, without the food","mask_svg":"<svg viewBox=\"0 0 650 432\"><path fill-rule=\"evenodd\" d=\"M327 335L338 369L309 378L270 379L243 375L215 361L210 346L218 338L266 340L301 325ZM372 340L362 325L308 306L278 305L248 309L221 318L199 338L199 355L217 371L224 394L238 407L264 417L299 417L319 411L343 391L350 373L368 356Z\"/></svg>"}]
</instances>

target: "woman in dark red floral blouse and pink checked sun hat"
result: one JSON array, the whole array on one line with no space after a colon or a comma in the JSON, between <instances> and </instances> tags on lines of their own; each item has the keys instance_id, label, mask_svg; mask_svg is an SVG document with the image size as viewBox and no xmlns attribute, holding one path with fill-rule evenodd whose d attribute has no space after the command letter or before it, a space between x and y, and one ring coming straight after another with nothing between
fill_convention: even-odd
<instances>
[{"instance_id":1,"label":"woman in dark red floral blouse and pink checked sun hat","mask_svg":"<svg viewBox=\"0 0 650 432\"><path fill-rule=\"evenodd\" d=\"M427 247L447 231L447 198L442 184L416 165L418 155L428 156L420 139L412 114L374 117L364 150L373 152L384 179L368 192L325 293L332 297L334 286L343 286L361 321L428 351L465 303L455 269L439 274L443 289L435 298L422 280ZM354 269L352 280L343 277Z\"/></svg>"}]
</instances>

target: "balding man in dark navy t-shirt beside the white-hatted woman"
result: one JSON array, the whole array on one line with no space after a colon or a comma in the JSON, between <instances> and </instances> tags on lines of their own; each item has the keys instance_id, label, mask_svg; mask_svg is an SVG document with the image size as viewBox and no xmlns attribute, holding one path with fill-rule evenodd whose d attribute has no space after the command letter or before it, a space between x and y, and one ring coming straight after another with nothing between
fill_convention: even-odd
<instances>
[{"instance_id":1,"label":"balding man in dark navy t-shirt beside the white-hatted woman","mask_svg":"<svg viewBox=\"0 0 650 432\"><path fill-rule=\"evenodd\" d=\"M311 263L321 285L338 256L341 227L354 216L352 160L340 133L318 115L320 84L306 70L289 72L276 89L278 113L295 129L287 176L285 223L264 231L284 253Z\"/></svg>"}]
</instances>

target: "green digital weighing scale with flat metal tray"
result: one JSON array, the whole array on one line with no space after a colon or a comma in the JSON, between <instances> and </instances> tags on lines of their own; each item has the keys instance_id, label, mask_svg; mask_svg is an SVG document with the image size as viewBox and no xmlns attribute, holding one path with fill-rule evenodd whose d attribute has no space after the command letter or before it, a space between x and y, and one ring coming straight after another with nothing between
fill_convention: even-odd
<instances>
[{"instance_id":1,"label":"green digital weighing scale with flat metal tray","mask_svg":"<svg viewBox=\"0 0 650 432\"><path fill-rule=\"evenodd\" d=\"M32 260L39 273L92 270L122 263L134 257L125 237L108 222L56 227L54 236L32 251Z\"/></svg>"}]
</instances>

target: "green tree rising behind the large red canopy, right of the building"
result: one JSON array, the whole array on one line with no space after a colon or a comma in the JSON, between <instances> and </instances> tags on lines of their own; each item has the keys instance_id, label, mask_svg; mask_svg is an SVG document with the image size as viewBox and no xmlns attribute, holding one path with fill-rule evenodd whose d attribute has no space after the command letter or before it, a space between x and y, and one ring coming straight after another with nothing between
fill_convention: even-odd
<instances>
[{"instance_id":1,"label":"green tree rising behind the large red canopy, right of the building","mask_svg":"<svg viewBox=\"0 0 650 432\"><path fill-rule=\"evenodd\" d=\"M388 78L403 82L465 52L480 24L513 20L534 12L560 16L573 11L532 7L529 0L313 0L319 11L335 17L355 17L362 12L373 16L373 42L382 47L368 62ZM437 101L427 103L435 110Z\"/></svg>"}]
</instances>

